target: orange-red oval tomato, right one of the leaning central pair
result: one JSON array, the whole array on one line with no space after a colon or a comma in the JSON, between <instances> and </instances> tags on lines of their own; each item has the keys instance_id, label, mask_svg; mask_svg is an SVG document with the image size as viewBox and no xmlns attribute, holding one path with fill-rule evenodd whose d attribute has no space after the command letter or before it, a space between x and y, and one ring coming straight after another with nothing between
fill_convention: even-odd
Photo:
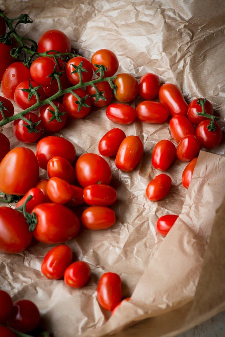
<instances>
[{"instance_id":1,"label":"orange-red oval tomato, right one of the leaning central pair","mask_svg":"<svg viewBox=\"0 0 225 337\"><path fill-rule=\"evenodd\" d=\"M133 171L141 160L143 151L143 144L138 136L126 137L116 155L117 168L125 172Z\"/></svg>"}]
</instances>

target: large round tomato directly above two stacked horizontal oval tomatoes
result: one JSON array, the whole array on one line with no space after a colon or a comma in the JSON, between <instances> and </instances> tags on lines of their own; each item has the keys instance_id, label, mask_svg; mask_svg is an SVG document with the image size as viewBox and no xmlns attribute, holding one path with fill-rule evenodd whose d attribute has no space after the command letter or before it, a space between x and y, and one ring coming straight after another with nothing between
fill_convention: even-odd
<instances>
[{"instance_id":1,"label":"large round tomato directly above two stacked horizontal oval tomatoes","mask_svg":"<svg viewBox=\"0 0 225 337\"><path fill-rule=\"evenodd\" d=\"M95 153L85 153L76 162L75 173L82 187L110 183L112 173L105 159Z\"/></svg>"}]
</instances>

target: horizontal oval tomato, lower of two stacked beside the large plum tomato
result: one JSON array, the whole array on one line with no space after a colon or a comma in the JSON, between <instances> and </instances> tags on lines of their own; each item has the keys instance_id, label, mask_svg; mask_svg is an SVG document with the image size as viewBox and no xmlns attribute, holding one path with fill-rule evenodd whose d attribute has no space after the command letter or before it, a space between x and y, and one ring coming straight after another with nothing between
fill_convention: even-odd
<instances>
[{"instance_id":1,"label":"horizontal oval tomato, lower of two stacked beside the large plum tomato","mask_svg":"<svg viewBox=\"0 0 225 337\"><path fill-rule=\"evenodd\" d=\"M108 207L92 206L83 212L81 220L83 225L88 229L106 229L114 225L116 215Z\"/></svg>"}]
</instances>

